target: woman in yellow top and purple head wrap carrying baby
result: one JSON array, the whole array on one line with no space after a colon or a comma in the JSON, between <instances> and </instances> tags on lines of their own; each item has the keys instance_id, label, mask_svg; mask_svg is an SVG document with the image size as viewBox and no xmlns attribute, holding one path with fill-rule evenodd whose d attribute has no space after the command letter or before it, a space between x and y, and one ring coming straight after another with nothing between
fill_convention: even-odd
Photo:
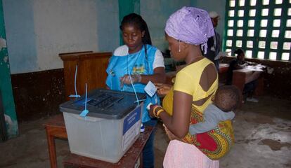
<instances>
[{"instance_id":1,"label":"woman in yellow top and purple head wrap carrying baby","mask_svg":"<svg viewBox=\"0 0 291 168\"><path fill-rule=\"evenodd\" d=\"M183 7L167 20L165 34L172 57L185 61L186 67L176 74L164 109L150 106L150 115L160 118L167 133L181 140L170 141L164 167L219 167L218 159L233 143L231 121L220 122L209 132L188 134L190 124L203 122L203 111L218 87L216 68L201 51L207 51L207 39L214 36L212 22L205 10Z\"/></svg>"}]
</instances>

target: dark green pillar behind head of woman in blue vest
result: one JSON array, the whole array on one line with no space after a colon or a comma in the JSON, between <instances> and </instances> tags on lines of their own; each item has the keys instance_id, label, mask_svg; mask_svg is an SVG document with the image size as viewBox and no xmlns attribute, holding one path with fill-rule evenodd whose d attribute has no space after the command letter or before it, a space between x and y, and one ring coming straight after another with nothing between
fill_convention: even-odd
<instances>
[{"instance_id":1,"label":"dark green pillar behind head of woman in blue vest","mask_svg":"<svg viewBox=\"0 0 291 168\"><path fill-rule=\"evenodd\" d=\"M140 0L119 0L119 25L122 22L122 18L129 13L141 13ZM120 45L123 45L122 35L119 36Z\"/></svg>"}]
</instances>

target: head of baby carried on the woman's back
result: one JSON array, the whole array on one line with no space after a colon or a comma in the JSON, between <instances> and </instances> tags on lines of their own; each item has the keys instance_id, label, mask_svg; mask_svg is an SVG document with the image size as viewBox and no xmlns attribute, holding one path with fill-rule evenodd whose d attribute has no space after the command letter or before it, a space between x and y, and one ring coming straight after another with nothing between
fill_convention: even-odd
<instances>
[{"instance_id":1,"label":"head of baby carried on the woman's back","mask_svg":"<svg viewBox=\"0 0 291 168\"><path fill-rule=\"evenodd\" d=\"M221 111L228 112L235 110L240 104L241 96L238 87L223 85L216 90L214 104Z\"/></svg>"}]
</instances>

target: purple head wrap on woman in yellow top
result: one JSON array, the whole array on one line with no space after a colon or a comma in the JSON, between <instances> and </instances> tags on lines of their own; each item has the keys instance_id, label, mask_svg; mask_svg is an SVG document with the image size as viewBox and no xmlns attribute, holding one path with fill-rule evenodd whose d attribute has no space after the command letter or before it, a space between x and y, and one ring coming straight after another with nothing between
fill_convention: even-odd
<instances>
[{"instance_id":1,"label":"purple head wrap on woman in yellow top","mask_svg":"<svg viewBox=\"0 0 291 168\"><path fill-rule=\"evenodd\" d=\"M207 11L186 6L169 17L164 31L177 40L194 45L202 44L205 54L207 40L214 36L214 28Z\"/></svg>"}]
</instances>

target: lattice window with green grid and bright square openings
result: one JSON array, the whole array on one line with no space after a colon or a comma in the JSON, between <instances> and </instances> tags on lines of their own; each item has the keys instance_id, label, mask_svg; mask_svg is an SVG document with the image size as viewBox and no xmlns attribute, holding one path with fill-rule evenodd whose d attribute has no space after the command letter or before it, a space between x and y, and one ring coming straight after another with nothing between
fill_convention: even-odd
<instances>
[{"instance_id":1,"label":"lattice window with green grid and bright square openings","mask_svg":"<svg viewBox=\"0 0 291 168\"><path fill-rule=\"evenodd\" d=\"M226 0L224 50L291 62L291 0Z\"/></svg>"}]
</instances>

